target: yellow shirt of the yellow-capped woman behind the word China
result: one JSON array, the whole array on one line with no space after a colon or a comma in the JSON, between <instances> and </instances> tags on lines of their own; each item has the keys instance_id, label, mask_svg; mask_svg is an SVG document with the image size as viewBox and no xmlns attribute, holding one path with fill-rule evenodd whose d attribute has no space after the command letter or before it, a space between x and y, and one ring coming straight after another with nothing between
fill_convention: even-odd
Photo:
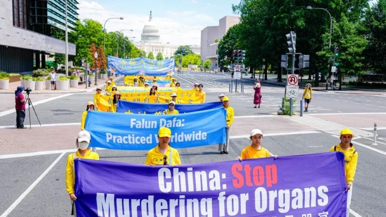
<instances>
[{"instance_id":1,"label":"yellow shirt of the yellow-capped woman behind the word China","mask_svg":"<svg viewBox=\"0 0 386 217\"><path fill-rule=\"evenodd\" d=\"M167 165L169 165L170 160L170 151L171 151L171 166L180 165L181 159L178 150L171 148L168 146L168 150L165 152L165 155L168 157L166 159ZM164 165L164 154L159 151L158 145L149 150L148 156L146 157L145 165Z\"/></svg>"}]
</instances>

